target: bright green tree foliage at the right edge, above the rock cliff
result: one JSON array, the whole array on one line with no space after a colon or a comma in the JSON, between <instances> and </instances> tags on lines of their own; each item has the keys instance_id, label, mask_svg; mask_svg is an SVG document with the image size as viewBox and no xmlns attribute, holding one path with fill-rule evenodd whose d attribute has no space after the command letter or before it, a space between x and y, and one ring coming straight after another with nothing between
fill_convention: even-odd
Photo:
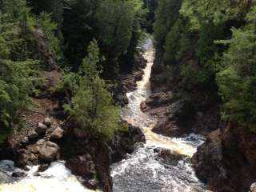
<instances>
[{"instance_id":1,"label":"bright green tree foliage at the right edge, above the rock cliff","mask_svg":"<svg viewBox=\"0 0 256 192\"><path fill-rule=\"evenodd\" d=\"M253 10L254 11L254 10ZM256 22L251 12L243 29L233 29L233 37L222 41L230 44L222 58L218 86L223 101L223 116L256 131Z\"/></svg>"}]
</instances>

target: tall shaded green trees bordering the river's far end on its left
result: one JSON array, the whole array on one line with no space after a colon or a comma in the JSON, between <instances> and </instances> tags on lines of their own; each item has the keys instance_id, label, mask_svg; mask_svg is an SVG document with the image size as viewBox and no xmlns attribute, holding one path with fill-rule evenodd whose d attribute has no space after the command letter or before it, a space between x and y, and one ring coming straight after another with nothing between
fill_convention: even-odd
<instances>
[{"instance_id":1,"label":"tall shaded green trees bordering the river's far end on its left","mask_svg":"<svg viewBox=\"0 0 256 192\"><path fill-rule=\"evenodd\" d=\"M142 2L138 0L104 0L98 7L96 13L98 40L102 45L106 64L110 68L110 75L118 72L117 59L121 54L125 54L130 46L134 30L138 28L136 17L139 18L140 10L142 10Z\"/></svg>"}]
</instances>

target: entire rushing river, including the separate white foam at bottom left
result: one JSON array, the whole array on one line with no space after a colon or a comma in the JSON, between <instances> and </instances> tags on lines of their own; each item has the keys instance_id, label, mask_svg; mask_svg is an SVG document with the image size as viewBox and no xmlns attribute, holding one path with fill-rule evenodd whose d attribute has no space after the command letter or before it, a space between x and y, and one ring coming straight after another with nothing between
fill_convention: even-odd
<instances>
[{"instance_id":1,"label":"entire rushing river, including the separate white foam at bottom left","mask_svg":"<svg viewBox=\"0 0 256 192\"><path fill-rule=\"evenodd\" d=\"M156 119L142 113L140 104L150 97L150 74L154 62L154 48L150 39L143 46L147 66L138 88L128 93L129 105L122 109L122 118L142 129L146 145L138 144L127 159L112 166L114 192L193 192L205 191L190 164L190 157L204 138L190 134L184 138L166 138L154 134L151 129ZM183 154L178 162L167 163L155 152L166 149ZM29 170L14 167L14 162L0 161L0 192L88 192L79 179L70 173L64 162L53 162L50 168L38 174L38 166ZM12 174L23 172L26 177L12 178Z\"/></svg>"}]
</instances>

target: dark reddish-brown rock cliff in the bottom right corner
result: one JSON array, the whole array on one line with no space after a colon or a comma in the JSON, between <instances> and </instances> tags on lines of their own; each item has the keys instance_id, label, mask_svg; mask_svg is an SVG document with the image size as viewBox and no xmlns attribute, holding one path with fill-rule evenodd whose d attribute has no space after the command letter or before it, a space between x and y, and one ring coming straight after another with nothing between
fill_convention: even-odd
<instances>
[{"instance_id":1,"label":"dark reddish-brown rock cliff in the bottom right corner","mask_svg":"<svg viewBox=\"0 0 256 192\"><path fill-rule=\"evenodd\" d=\"M214 191L248 191L256 180L256 134L222 123L198 148L192 162L198 177Z\"/></svg>"}]
</instances>

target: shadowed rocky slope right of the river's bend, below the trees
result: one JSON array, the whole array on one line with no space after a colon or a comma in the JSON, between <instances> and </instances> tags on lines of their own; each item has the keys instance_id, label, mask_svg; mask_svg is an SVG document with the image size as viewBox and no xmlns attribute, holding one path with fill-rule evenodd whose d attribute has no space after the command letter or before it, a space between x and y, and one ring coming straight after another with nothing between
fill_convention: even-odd
<instances>
[{"instance_id":1,"label":"shadowed rocky slope right of the river's bend, below the trees","mask_svg":"<svg viewBox=\"0 0 256 192\"><path fill-rule=\"evenodd\" d=\"M153 94L142 102L144 112L158 117L153 131L180 137L190 133L206 135L216 130L220 120L218 94L207 93L196 85L184 86L178 71L175 77L166 79L161 61L161 55L157 54L150 79Z\"/></svg>"}]
</instances>

